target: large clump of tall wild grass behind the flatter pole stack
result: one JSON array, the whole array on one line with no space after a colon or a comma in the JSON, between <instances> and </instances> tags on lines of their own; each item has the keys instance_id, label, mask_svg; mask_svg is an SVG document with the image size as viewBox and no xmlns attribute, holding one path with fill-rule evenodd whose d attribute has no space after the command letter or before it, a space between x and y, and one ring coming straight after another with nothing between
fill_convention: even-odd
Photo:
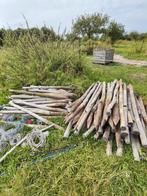
<instances>
[{"instance_id":1,"label":"large clump of tall wild grass behind the flatter pole stack","mask_svg":"<svg viewBox=\"0 0 147 196\"><path fill-rule=\"evenodd\" d=\"M61 40L43 43L29 33L13 42L9 36L6 43L11 45L11 52L1 73L5 85L63 84L84 72L83 56L76 43Z\"/></svg>"}]
</instances>

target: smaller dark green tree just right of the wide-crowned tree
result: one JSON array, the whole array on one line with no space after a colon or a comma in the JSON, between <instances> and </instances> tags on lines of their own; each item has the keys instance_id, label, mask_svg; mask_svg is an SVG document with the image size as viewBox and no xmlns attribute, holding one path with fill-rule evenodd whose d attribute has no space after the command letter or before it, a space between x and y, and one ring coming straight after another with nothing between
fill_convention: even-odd
<instances>
[{"instance_id":1,"label":"smaller dark green tree just right of the wide-crowned tree","mask_svg":"<svg viewBox=\"0 0 147 196\"><path fill-rule=\"evenodd\" d=\"M109 37L111 43L114 44L117 40L123 38L124 32L125 30L122 24L112 21L107 28L106 36Z\"/></svg>"}]
</instances>

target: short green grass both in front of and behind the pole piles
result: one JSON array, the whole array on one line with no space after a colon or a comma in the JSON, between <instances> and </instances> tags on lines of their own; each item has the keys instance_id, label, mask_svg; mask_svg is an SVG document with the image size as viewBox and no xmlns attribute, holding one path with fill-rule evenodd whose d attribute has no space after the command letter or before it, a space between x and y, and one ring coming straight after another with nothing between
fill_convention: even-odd
<instances>
[{"instance_id":1,"label":"short green grass both in front of and behind the pole piles","mask_svg":"<svg viewBox=\"0 0 147 196\"><path fill-rule=\"evenodd\" d=\"M6 64L6 53L7 50L0 53L0 69ZM93 65L91 57L85 57L85 67L83 75L67 76L61 83L74 84L79 95L92 82L122 78L126 83L132 83L147 103L147 67L116 63ZM1 102L5 101L6 94L6 89L2 89ZM54 121L65 127L62 118ZM46 146L34 154L28 148L18 147L0 165L0 195L147 195L147 163L133 161L130 146L125 147L121 158L115 156L115 146L114 155L107 157L103 141L94 141L91 137L83 140L76 136L63 140L62 135L61 131L52 129ZM49 152L71 144L76 147L69 152L43 160ZM39 161L34 163L33 160Z\"/></svg>"}]
</instances>

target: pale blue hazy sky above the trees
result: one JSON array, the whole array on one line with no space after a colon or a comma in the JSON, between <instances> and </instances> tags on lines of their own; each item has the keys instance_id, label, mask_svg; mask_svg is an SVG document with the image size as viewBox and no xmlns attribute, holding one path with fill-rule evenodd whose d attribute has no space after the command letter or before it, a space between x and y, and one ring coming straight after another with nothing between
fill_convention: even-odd
<instances>
[{"instance_id":1,"label":"pale blue hazy sky above the trees","mask_svg":"<svg viewBox=\"0 0 147 196\"><path fill-rule=\"evenodd\" d=\"M52 26L70 30L81 14L101 12L125 26L127 32L147 32L147 0L0 0L0 28Z\"/></svg>"}]
</instances>

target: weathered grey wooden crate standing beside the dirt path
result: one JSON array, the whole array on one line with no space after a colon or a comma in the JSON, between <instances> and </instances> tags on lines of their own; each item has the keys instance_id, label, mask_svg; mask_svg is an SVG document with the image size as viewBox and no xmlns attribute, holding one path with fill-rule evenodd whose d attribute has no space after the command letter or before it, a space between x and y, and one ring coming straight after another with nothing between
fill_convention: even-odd
<instances>
[{"instance_id":1,"label":"weathered grey wooden crate standing beside the dirt path","mask_svg":"<svg viewBox=\"0 0 147 196\"><path fill-rule=\"evenodd\" d=\"M95 48L93 50L93 63L108 64L113 62L114 49Z\"/></svg>"}]
</instances>

